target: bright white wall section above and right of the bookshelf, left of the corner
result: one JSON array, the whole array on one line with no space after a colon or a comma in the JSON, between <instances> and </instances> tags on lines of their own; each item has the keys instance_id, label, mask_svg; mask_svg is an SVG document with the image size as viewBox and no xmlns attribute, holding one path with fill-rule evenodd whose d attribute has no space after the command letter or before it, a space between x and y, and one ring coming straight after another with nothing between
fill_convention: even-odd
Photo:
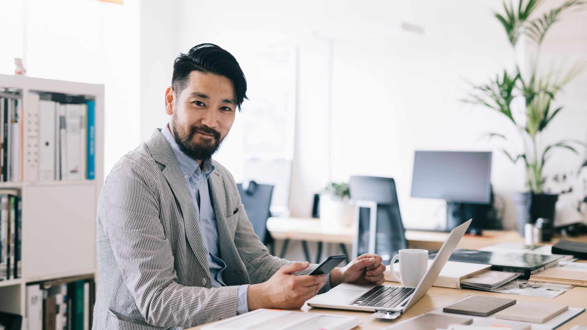
<instances>
[{"instance_id":1,"label":"bright white wall section above and right of the bookshelf, left of the corner","mask_svg":"<svg viewBox=\"0 0 587 330\"><path fill-rule=\"evenodd\" d=\"M12 57L24 58L27 75L100 83L106 132L104 169L139 143L139 1L124 5L96 0L1 1L0 72L14 73Z\"/></svg>"}]
</instances>

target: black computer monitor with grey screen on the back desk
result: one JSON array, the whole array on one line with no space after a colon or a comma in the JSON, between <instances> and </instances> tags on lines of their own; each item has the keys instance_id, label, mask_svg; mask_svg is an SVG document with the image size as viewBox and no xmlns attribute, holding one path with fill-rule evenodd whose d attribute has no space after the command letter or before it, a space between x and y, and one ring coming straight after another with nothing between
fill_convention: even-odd
<instances>
[{"instance_id":1,"label":"black computer monitor with grey screen on the back desk","mask_svg":"<svg viewBox=\"0 0 587 330\"><path fill-rule=\"evenodd\" d=\"M473 218L484 227L491 208L491 151L416 151L411 197L447 202L447 230Z\"/></svg>"}]
</instances>

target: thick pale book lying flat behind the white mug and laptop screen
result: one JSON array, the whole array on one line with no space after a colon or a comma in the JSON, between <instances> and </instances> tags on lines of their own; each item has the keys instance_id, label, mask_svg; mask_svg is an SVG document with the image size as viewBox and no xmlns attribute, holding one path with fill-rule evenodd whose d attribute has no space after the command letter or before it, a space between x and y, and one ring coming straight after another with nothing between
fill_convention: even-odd
<instances>
[{"instance_id":1,"label":"thick pale book lying flat behind the white mug and laptop screen","mask_svg":"<svg viewBox=\"0 0 587 330\"><path fill-rule=\"evenodd\" d=\"M429 269L433 262L434 260L428 260ZM400 265L401 262L397 262L393 265L393 269L399 272ZM490 268L491 265L447 261L443 269L440 271L440 274L438 274L438 277L436 278L436 281L434 281L433 285L434 287L460 289L462 280L473 277L477 274L481 274L485 271L488 271ZM390 265L387 265L384 272L384 277L386 281L397 281L390 271Z\"/></svg>"}]
</instances>

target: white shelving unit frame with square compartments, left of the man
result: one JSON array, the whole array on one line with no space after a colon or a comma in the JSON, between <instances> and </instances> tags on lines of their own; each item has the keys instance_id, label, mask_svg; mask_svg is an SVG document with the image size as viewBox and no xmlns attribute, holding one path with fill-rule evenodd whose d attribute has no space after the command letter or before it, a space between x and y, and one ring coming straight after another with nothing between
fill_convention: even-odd
<instances>
[{"instance_id":1,"label":"white shelving unit frame with square compartments, left of the man","mask_svg":"<svg viewBox=\"0 0 587 330\"><path fill-rule=\"evenodd\" d=\"M82 95L96 102L95 180L2 182L22 196L22 278L0 281L0 311L26 316L26 284L96 274L96 203L104 181L104 86L62 80L0 75L0 91L23 100L23 132L29 93ZM23 146L26 155L26 143ZM24 176L28 178L26 166ZM26 180L26 179L25 179Z\"/></svg>"}]
</instances>

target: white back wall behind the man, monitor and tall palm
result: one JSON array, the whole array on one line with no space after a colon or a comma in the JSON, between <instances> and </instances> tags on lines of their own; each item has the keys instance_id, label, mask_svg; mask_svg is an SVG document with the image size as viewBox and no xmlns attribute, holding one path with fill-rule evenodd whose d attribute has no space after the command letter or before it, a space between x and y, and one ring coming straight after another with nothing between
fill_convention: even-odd
<instances>
[{"instance_id":1,"label":"white back wall behind the man, monitor and tall palm","mask_svg":"<svg viewBox=\"0 0 587 330\"><path fill-rule=\"evenodd\" d=\"M323 38L335 39L333 179L345 181L353 174L394 177L404 222L409 227L434 226L443 223L445 217L442 201L409 197L413 152L417 149L496 151L492 183L497 193L510 200L512 193L524 190L522 167L512 166L498 144L478 141L485 132L515 133L512 127L497 113L459 102L470 90L465 79L480 83L503 68L513 68L514 53L492 16L494 9L501 9L501 1L359 4L349 0L299 1L296 5L179 1L176 9L182 52L198 43L217 43L246 67L254 49L298 47L292 215L309 216L312 195L326 185L329 174L328 45ZM575 15L552 30L543 46L545 53L558 52L562 61L569 54L587 59L586 16ZM402 31L402 22L422 26L424 33ZM145 66L149 63L143 62ZM168 73L164 80L167 82L170 76ZM549 129L552 136L585 139L587 96L581 90L585 90L586 80L587 74L582 75L559 98L568 106ZM153 116L150 113L143 115ZM153 130L151 123L161 121L161 116L156 116L143 117L143 137ZM246 103L238 116L246 116ZM227 146L236 150L238 141L231 141L229 136L223 147ZM232 170L230 156L221 156ZM557 170L572 169L580 161L565 151L556 156L551 165ZM240 160L234 158L232 166L237 167ZM239 169L233 172L238 174ZM235 178L239 180L238 175ZM515 225L511 202L506 224Z\"/></svg>"}]
</instances>

